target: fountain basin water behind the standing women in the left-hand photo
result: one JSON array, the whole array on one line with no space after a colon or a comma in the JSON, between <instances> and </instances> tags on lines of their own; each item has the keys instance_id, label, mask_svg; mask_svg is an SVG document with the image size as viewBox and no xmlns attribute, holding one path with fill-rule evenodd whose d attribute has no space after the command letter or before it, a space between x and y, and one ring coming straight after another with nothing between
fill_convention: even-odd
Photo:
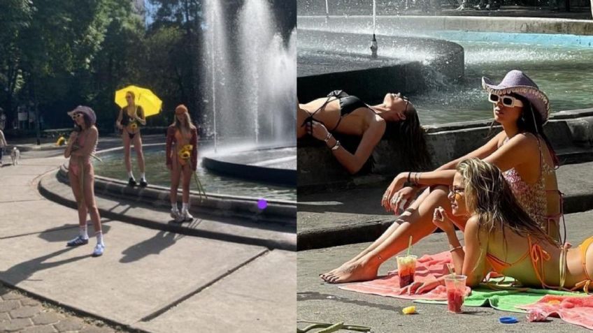
<instances>
[{"instance_id":1,"label":"fountain basin water behind the standing women in the left-hand photo","mask_svg":"<svg viewBox=\"0 0 593 333\"><path fill-rule=\"evenodd\" d=\"M134 154L132 154L134 156ZM144 151L146 177L150 184L169 187L171 186L171 173L165 165L165 152L162 149L150 148ZM101 155L102 163L95 162L95 173L99 176L115 179L126 179L126 168L121 151L115 151L110 154ZM136 170L136 160L132 161L134 170ZM138 178L138 173L136 178ZM248 182L243 179L232 177L221 177L213 172L198 165L198 177L206 193L248 196L253 198L265 198L267 200L289 200L296 201L296 188L261 184L257 182ZM190 185L193 191L197 191L197 186L192 179Z\"/></svg>"}]
</instances>

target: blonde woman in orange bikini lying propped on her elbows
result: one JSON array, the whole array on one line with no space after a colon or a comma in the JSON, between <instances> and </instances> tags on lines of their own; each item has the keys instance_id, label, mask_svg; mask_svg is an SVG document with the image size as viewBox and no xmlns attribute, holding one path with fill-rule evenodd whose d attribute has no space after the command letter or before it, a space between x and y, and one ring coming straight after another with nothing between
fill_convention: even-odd
<instances>
[{"instance_id":1,"label":"blonde woman in orange bikini lying propped on her elbows","mask_svg":"<svg viewBox=\"0 0 593 333\"><path fill-rule=\"evenodd\" d=\"M445 231L455 272L477 286L494 271L523 286L563 290L593 290L593 237L578 248L559 246L539 228L518 202L503 172L492 163L468 158L459 163L449 193L452 216L469 216L465 249L445 209L434 212L434 224ZM414 283L408 293L423 293L443 279Z\"/></svg>"}]
</instances>

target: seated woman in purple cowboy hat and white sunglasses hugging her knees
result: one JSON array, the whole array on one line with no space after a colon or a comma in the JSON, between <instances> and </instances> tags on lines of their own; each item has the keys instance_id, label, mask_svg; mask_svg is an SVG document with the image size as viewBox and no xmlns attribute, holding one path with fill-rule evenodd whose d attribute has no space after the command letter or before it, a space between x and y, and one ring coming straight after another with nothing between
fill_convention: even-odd
<instances>
[{"instance_id":1,"label":"seated woman in purple cowboy hat and white sunglasses hugging her knees","mask_svg":"<svg viewBox=\"0 0 593 333\"><path fill-rule=\"evenodd\" d=\"M373 244L341 267L321 274L322 279L331 283L375 279L379 266L405 249L410 236L417 242L434 232L434 209L445 207L450 212L448 186L453 182L457 163L469 157L482 158L503 170L531 219L559 242L562 203L555 175L558 160L542 128L550 112L548 97L521 71L508 72L498 85L484 77L483 88L494 105L494 121L503 130L482 147L432 172L397 175L381 204L393 212L406 208L406 202L409 207ZM423 187L428 188L413 200ZM465 228L463 216L452 219L460 229Z\"/></svg>"}]
</instances>

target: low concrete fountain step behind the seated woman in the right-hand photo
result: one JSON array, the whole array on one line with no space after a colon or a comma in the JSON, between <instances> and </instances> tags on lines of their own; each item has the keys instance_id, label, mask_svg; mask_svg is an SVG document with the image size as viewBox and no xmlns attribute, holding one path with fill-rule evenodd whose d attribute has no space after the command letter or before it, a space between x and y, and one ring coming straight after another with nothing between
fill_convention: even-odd
<instances>
[{"instance_id":1,"label":"low concrete fountain step behind the seated woman in the right-hand photo","mask_svg":"<svg viewBox=\"0 0 593 333\"><path fill-rule=\"evenodd\" d=\"M593 209L593 162L562 165L557 170L564 212ZM394 221L381 207L381 197L389 183L348 191L299 193L296 218L299 251L322 247L371 242ZM571 228L570 222L566 224Z\"/></svg>"}]
</instances>

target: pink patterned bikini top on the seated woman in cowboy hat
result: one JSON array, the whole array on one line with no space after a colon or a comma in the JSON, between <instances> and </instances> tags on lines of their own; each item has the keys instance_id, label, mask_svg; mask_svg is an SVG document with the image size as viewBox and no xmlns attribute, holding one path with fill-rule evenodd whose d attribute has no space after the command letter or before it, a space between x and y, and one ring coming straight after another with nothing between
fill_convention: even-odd
<instances>
[{"instance_id":1,"label":"pink patterned bikini top on the seated woman in cowboy hat","mask_svg":"<svg viewBox=\"0 0 593 333\"><path fill-rule=\"evenodd\" d=\"M531 133L530 133L531 134ZM533 135L533 134L531 134ZM543 151L541 149L541 142L537 138L539 155L540 155L540 176L534 184L525 182L515 168L511 168L503 172L504 179L509 184L513 191L515 198L519 201L521 207L529 214L531 219L534 219L538 225L544 230L548 227L548 218L555 216L548 216L548 200L546 197L545 176L554 175L555 170L545 163L543 158ZM503 145L508 142L506 138ZM557 190L553 190L557 191Z\"/></svg>"}]
</instances>

